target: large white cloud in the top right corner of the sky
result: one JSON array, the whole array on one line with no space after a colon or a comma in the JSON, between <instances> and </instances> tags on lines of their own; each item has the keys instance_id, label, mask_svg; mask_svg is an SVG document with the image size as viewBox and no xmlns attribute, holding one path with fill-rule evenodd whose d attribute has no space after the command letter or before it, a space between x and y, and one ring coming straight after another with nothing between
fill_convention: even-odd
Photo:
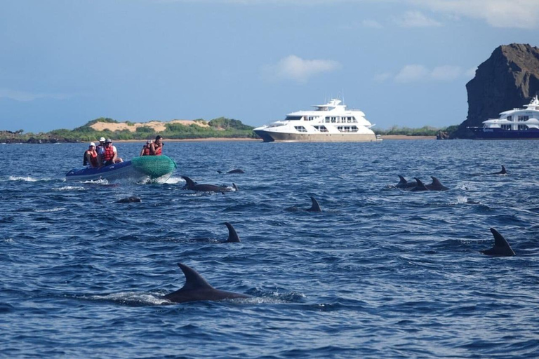
<instances>
[{"instance_id":1,"label":"large white cloud in the top right corner of the sky","mask_svg":"<svg viewBox=\"0 0 539 359\"><path fill-rule=\"evenodd\" d=\"M485 20L493 27L539 27L538 0L411 0L413 4L447 15Z\"/></svg>"}]
</instances>

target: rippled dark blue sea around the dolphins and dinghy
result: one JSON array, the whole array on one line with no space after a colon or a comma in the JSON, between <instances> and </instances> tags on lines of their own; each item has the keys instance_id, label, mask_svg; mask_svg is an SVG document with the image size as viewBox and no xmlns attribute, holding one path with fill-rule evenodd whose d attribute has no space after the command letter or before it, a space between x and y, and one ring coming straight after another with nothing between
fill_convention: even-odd
<instances>
[{"instance_id":1,"label":"rippled dark blue sea around the dolphins and dinghy","mask_svg":"<svg viewBox=\"0 0 539 359\"><path fill-rule=\"evenodd\" d=\"M537 358L537 145L165 141L172 177L136 184L65 182L86 144L0 144L0 357ZM515 257L479 252L491 227ZM168 302L178 262L254 298Z\"/></svg>"}]
</instances>

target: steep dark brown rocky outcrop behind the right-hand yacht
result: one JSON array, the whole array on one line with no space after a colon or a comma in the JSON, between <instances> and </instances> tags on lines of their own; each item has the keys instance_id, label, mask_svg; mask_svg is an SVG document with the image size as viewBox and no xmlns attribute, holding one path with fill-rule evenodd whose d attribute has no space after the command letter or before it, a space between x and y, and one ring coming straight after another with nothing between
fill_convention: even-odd
<instances>
[{"instance_id":1,"label":"steep dark brown rocky outcrop behind the right-hand yacht","mask_svg":"<svg viewBox=\"0 0 539 359\"><path fill-rule=\"evenodd\" d=\"M466 84L468 116L452 138L473 137L467 127L483 126L500 112L523 107L539 93L539 48L512 43L495 48Z\"/></svg>"}]
</instances>

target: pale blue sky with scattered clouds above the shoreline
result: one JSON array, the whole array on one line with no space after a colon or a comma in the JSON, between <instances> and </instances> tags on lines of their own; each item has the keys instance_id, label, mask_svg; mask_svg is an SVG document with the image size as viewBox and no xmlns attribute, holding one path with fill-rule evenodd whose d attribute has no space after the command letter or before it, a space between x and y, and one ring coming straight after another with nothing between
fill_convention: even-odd
<instances>
[{"instance_id":1,"label":"pale blue sky with scattered clouds above the shoreline","mask_svg":"<svg viewBox=\"0 0 539 359\"><path fill-rule=\"evenodd\" d=\"M467 115L539 0L1 0L0 130L220 116L260 126L344 97L377 128Z\"/></svg>"}]
</instances>

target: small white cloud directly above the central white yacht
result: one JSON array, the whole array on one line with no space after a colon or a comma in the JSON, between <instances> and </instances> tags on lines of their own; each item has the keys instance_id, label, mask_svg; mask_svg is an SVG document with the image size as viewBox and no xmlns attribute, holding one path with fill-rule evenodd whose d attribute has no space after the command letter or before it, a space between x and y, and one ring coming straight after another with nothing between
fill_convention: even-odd
<instances>
[{"instance_id":1,"label":"small white cloud directly above the central white yacht","mask_svg":"<svg viewBox=\"0 0 539 359\"><path fill-rule=\"evenodd\" d=\"M340 69L339 62L333 60L303 60L296 55L284 57L276 65L267 65L262 71L269 79L306 82L310 77Z\"/></svg>"}]
</instances>

